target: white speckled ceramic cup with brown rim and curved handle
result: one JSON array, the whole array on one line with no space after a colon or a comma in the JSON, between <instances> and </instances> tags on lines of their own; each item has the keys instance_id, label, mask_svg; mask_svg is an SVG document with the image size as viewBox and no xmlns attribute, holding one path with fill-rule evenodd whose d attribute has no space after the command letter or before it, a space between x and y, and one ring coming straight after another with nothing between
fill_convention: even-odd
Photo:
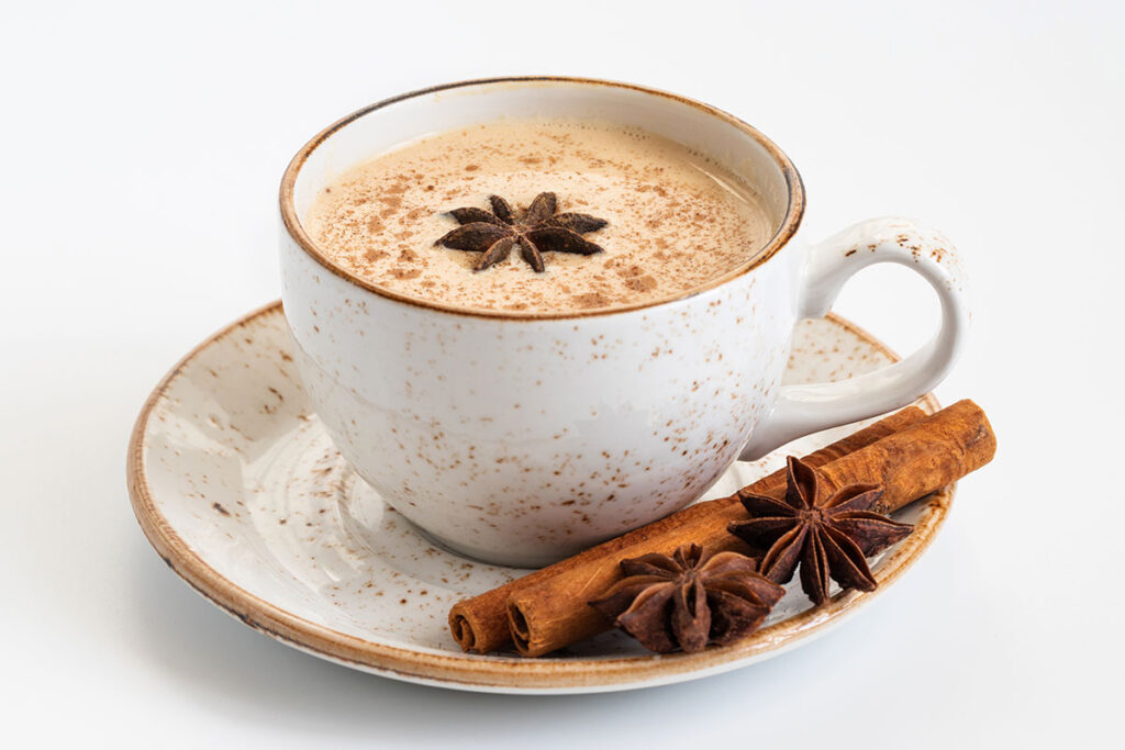
<instances>
[{"instance_id":1,"label":"white speckled ceramic cup with brown rim and curved handle","mask_svg":"<svg viewBox=\"0 0 1125 750\"><path fill-rule=\"evenodd\" d=\"M428 133L533 116L640 126L710 155L762 197L768 246L670 301L482 313L374 287L302 226L317 191L363 160ZM808 244L803 210L801 179L771 141L674 94L498 79L381 101L316 135L281 182L285 313L305 387L343 457L403 516L474 558L546 564L683 507L739 458L904 406L948 371L969 324L952 245L900 218ZM782 386L796 322L824 316L873 263L933 286L938 334L871 374Z\"/></svg>"}]
</instances>

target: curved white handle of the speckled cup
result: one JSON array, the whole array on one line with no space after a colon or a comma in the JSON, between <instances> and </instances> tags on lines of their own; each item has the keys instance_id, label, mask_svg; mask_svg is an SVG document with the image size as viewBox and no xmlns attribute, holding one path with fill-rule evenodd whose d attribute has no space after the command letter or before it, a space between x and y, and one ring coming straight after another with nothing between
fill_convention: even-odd
<instances>
[{"instance_id":1,"label":"curved white handle of the speckled cup","mask_svg":"<svg viewBox=\"0 0 1125 750\"><path fill-rule=\"evenodd\" d=\"M783 386L773 412L742 449L742 461L818 430L907 406L950 371L969 332L965 277L950 241L909 219L871 219L810 247L798 286L798 318L827 315L844 282L874 263L899 263L920 273L942 301L942 328L907 359L875 372L840 382Z\"/></svg>"}]
</instances>

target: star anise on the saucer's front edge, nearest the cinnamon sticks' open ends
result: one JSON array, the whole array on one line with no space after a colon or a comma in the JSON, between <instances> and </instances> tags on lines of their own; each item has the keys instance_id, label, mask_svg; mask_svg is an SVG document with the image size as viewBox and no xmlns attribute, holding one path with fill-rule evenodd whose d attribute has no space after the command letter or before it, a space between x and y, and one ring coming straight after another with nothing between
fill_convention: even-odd
<instances>
[{"instance_id":1,"label":"star anise on the saucer's front edge, nearest the cinnamon sticks' open ends","mask_svg":"<svg viewBox=\"0 0 1125 750\"><path fill-rule=\"evenodd\" d=\"M660 653L692 653L708 643L731 643L749 634L785 593L737 552L710 555L699 544L669 558L645 554L621 561L626 578L590 605Z\"/></svg>"}]
</instances>

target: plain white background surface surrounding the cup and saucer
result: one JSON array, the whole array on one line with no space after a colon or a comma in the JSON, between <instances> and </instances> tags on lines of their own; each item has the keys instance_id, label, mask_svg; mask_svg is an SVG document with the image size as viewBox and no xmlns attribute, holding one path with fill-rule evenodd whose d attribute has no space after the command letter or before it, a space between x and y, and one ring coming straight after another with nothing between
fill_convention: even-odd
<instances>
[{"instance_id":1,"label":"plain white background surface surrounding the cup and saucer","mask_svg":"<svg viewBox=\"0 0 1125 750\"><path fill-rule=\"evenodd\" d=\"M6 4L0 21L0 737L116 747L1089 747L1120 742L1125 12L1119 2ZM973 280L939 388L1000 437L928 554L810 645L703 681L503 697L398 684L209 606L133 519L164 371L279 295L281 171L438 82L634 81L773 137L807 236L925 218ZM900 351L936 304L837 310ZM1117 744L1117 747L1120 747Z\"/></svg>"}]
</instances>

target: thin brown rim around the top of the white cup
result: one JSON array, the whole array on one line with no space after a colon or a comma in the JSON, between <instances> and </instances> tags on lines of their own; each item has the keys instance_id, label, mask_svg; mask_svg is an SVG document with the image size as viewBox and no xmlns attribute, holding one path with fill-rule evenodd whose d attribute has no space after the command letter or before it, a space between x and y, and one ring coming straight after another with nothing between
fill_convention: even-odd
<instances>
[{"instance_id":1,"label":"thin brown rim around the top of the white cup","mask_svg":"<svg viewBox=\"0 0 1125 750\"><path fill-rule=\"evenodd\" d=\"M686 292L672 297L669 299L662 299L649 302L637 302L636 305L627 305L624 307L614 307L612 309L595 309L588 311L568 311L568 313L529 313L522 310L484 310L467 307L458 307L456 305L444 305L441 302L434 302L429 300L418 299L416 297L411 297L403 295L389 289L384 289L374 283L364 281L363 279L351 273L344 269L339 263L333 262L327 255L325 255L305 233L305 228L302 226L300 219L297 217L297 209L294 205L294 186L297 182L297 175L300 173L302 168L305 162L312 155L317 147L320 147L332 134L343 127L350 125L354 120L374 112L378 109L382 109L389 105L394 105L406 99L413 99L415 97L423 97L430 93L435 93L438 91L449 91L452 89L462 89L474 85L493 85L498 83L575 83L580 85L604 85L613 87L618 89L627 89L631 91L639 91L641 93L650 94L654 97L660 97L664 99L669 99L672 101L677 101L680 103L688 105L694 107L712 117L717 117L729 125L734 125L738 129L742 130L745 134L757 141L763 148L773 157L774 162L781 169L782 174L785 178L785 187L789 191L789 200L786 202L785 216L782 218L781 226L777 232L770 238L766 246L762 252L757 253L750 261L740 265L739 268L724 273L721 277L712 279L711 281L687 290ZM785 246L785 244L793 237L796 233L798 227L801 225L801 218L804 216L804 184L801 181L801 175L798 173L796 168L793 162L790 161L789 156L782 152L770 138L763 135L759 130L752 127L750 125L738 119L734 115L722 111L710 105L704 105L703 102L695 101L694 99L688 99L686 97L681 97L675 93L669 93L667 91L660 91L658 89L649 89L647 87L636 85L632 83L620 83L616 81L602 81L598 79L587 79L587 78L569 78L569 76L554 76L554 75L514 75L504 78L489 78L489 79L475 79L471 81L458 81L456 83L443 83L441 85L434 85L426 89L418 89L416 91L411 91L408 93L403 93L397 97L392 97L389 99L384 99L374 105L359 109L346 117L336 120L328 127L324 128L317 133L313 138L302 146L300 151L292 157L289 165L286 168L285 174L281 175L281 190L280 190L280 205L281 205L281 222L285 224L286 232L292 238L297 245L304 250L309 256L312 256L317 263L323 265L332 273L338 277L356 284L361 289L379 295L387 299L393 299L399 302L406 302L415 307L430 308L434 310L441 310L443 313L454 313L458 315L467 315L471 317L480 318L504 318L504 319L523 319L523 320L549 320L549 319L567 319L567 318L582 318L592 317L600 315L615 315L619 313L629 313L638 309L644 309L648 307L655 307L658 305L667 305L670 302L692 297L703 291L714 289L723 283L736 279L745 273L748 273L762 265L771 257L777 254L777 252Z\"/></svg>"}]
</instances>

